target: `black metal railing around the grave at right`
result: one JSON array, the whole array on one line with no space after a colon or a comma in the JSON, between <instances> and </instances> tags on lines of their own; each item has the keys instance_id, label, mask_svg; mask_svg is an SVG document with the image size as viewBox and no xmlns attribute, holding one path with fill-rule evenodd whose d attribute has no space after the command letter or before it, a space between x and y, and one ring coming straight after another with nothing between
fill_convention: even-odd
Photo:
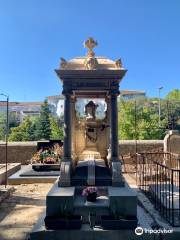
<instances>
[{"instance_id":1,"label":"black metal railing around the grave at right","mask_svg":"<svg viewBox=\"0 0 180 240\"><path fill-rule=\"evenodd\" d=\"M180 226L180 158L171 153L138 153L136 181L156 209L172 225Z\"/></svg>"}]
</instances>

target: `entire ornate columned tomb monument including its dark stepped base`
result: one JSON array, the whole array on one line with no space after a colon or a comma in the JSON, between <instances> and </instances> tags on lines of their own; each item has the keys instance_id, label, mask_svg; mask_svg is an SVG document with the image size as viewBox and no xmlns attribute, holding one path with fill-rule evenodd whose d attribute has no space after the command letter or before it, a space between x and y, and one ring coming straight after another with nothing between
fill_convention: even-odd
<instances>
[{"instance_id":1,"label":"entire ornate columned tomb monument including its dark stepped base","mask_svg":"<svg viewBox=\"0 0 180 240\"><path fill-rule=\"evenodd\" d=\"M68 216L79 214L82 225L79 230L52 230L42 223L31 233L32 240L136 237L134 222L131 226L128 220L122 229L101 226L104 215L114 213L117 219L120 216L136 219L137 215L137 196L123 179L118 151L117 97L127 70L120 59L95 56L97 42L92 38L84 46L88 49L86 56L69 61L61 58L60 68L55 70L65 98L64 157L60 176L46 198L46 218L55 218L63 207ZM77 103L84 99L78 113ZM96 201L88 202L82 196L87 186L97 188Z\"/></svg>"}]
</instances>

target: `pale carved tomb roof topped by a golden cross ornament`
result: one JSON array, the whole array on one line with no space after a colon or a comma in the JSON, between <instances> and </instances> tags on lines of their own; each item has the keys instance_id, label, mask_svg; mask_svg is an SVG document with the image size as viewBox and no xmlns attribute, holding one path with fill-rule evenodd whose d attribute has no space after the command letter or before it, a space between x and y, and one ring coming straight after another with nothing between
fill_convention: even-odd
<instances>
[{"instance_id":1,"label":"pale carved tomb roof topped by a golden cross ornament","mask_svg":"<svg viewBox=\"0 0 180 240\"><path fill-rule=\"evenodd\" d=\"M86 56L75 57L69 61L61 58L60 69L61 70L120 70L122 67L121 59L113 61L106 57L95 56L93 48L98 45L97 41L93 38L89 38L84 42L84 46L88 48Z\"/></svg>"}]
</instances>

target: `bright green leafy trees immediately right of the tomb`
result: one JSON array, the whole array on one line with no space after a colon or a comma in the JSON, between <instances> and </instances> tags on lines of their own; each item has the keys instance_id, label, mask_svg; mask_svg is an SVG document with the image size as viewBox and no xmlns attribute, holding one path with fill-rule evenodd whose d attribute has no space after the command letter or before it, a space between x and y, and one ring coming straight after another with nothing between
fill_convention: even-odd
<instances>
[{"instance_id":1,"label":"bright green leafy trees immediately right of the tomb","mask_svg":"<svg viewBox=\"0 0 180 240\"><path fill-rule=\"evenodd\" d=\"M159 127L158 106L149 100L122 101L119 103L120 139L162 139L167 119Z\"/></svg>"}]
</instances>

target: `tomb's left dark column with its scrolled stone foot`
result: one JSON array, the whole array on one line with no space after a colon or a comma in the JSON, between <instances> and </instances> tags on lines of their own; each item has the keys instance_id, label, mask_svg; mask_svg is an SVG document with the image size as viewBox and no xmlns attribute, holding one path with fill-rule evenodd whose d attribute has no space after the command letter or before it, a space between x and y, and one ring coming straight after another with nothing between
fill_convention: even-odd
<instances>
[{"instance_id":1,"label":"tomb's left dark column with its scrolled stone foot","mask_svg":"<svg viewBox=\"0 0 180 240\"><path fill-rule=\"evenodd\" d=\"M69 92L64 93L64 143L63 151L64 156L60 166L59 186L69 187L71 186L71 94Z\"/></svg>"}]
</instances>

